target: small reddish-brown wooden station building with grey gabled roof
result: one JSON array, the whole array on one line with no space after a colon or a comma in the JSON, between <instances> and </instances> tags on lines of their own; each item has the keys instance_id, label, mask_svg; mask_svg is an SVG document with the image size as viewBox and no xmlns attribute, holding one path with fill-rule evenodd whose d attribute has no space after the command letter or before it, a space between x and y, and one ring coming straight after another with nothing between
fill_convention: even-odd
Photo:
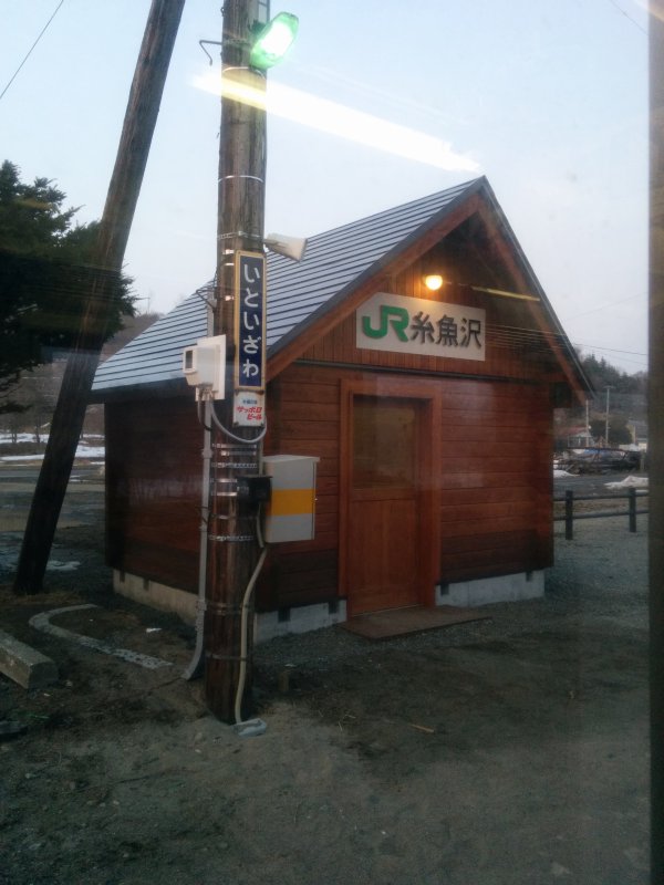
<instances>
[{"instance_id":1,"label":"small reddish-brown wooden station building with grey gabled roof","mask_svg":"<svg viewBox=\"0 0 664 885\"><path fill-rule=\"evenodd\" d=\"M115 587L189 618L203 430L181 353L208 310L194 293L94 385ZM264 454L320 460L315 538L270 549L259 641L543 593L552 412L588 381L486 178L270 254L268 379Z\"/></svg>"}]
</instances>

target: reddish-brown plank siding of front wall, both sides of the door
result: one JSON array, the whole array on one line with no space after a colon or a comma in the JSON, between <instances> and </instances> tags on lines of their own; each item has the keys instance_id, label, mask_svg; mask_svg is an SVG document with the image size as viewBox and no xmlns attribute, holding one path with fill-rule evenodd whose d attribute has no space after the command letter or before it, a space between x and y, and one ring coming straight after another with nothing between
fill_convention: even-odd
<instances>
[{"instance_id":1,"label":"reddish-brown plank siding of front wall, both sides of the door","mask_svg":"<svg viewBox=\"0 0 664 885\"><path fill-rule=\"evenodd\" d=\"M339 593L342 379L384 375L293 364L270 388L266 452L321 459L317 534L271 551L257 607L326 602ZM438 496L443 583L544 568L552 562L551 413L546 385L427 378L443 429L432 485Z\"/></svg>"}]
</instances>

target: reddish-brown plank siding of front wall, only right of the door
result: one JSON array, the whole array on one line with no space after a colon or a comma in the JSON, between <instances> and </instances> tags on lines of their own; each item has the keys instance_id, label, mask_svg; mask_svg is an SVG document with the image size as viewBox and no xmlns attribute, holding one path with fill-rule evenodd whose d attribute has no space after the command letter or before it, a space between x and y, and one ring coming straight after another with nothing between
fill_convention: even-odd
<instances>
[{"instance_id":1,"label":"reddish-brown plank siding of front wall, only right of the door","mask_svg":"<svg viewBox=\"0 0 664 885\"><path fill-rule=\"evenodd\" d=\"M449 382L440 439L440 580L552 562L551 415L544 386Z\"/></svg>"}]
</instances>

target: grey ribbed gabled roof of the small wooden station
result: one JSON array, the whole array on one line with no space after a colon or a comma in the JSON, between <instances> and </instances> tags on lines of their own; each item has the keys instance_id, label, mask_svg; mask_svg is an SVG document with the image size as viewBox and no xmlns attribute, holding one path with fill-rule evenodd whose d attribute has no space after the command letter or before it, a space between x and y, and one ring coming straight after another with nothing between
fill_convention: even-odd
<instances>
[{"instance_id":1,"label":"grey ribbed gabled roof of the small wooden station","mask_svg":"<svg viewBox=\"0 0 664 885\"><path fill-rule=\"evenodd\" d=\"M274 357L312 325L328 316L347 295L356 291L400 256L408 252L427 232L435 231L455 210L481 194L498 214L501 227L531 278L549 313L552 331L563 341L563 350L577 373L583 373L541 287L511 232L485 177L369 216L308 239L301 262L269 253L268 264L268 358ZM96 372L93 394L167 383L185 385L181 374L183 350L208 334L206 298L208 287L189 295L180 305L158 320L121 351L102 363Z\"/></svg>"}]
</instances>

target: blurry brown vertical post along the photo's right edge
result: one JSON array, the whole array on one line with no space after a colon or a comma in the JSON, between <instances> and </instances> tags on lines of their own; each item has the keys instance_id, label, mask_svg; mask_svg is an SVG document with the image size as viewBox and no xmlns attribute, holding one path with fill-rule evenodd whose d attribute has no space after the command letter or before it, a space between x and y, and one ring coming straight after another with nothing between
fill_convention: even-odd
<instances>
[{"instance_id":1,"label":"blurry brown vertical post along the photo's right edge","mask_svg":"<svg viewBox=\"0 0 664 885\"><path fill-rule=\"evenodd\" d=\"M650 2L651 882L664 882L664 0Z\"/></svg>"}]
</instances>

